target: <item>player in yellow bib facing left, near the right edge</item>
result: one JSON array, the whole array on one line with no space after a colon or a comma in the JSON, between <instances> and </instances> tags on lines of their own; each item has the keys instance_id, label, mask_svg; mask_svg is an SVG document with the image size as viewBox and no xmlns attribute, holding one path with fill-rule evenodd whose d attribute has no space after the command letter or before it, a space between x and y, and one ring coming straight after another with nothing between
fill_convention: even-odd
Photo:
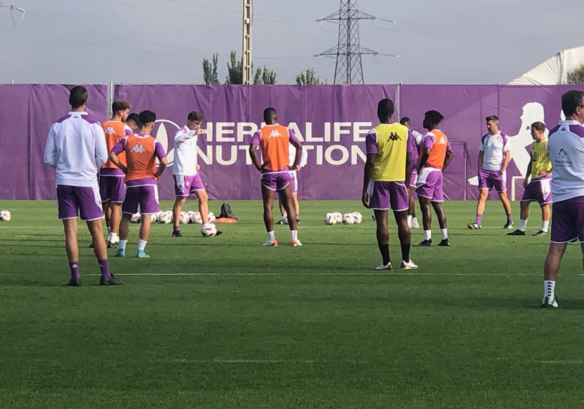
<instances>
[{"instance_id":1,"label":"player in yellow bib facing left, near the right edge","mask_svg":"<svg viewBox=\"0 0 584 409\"><path fill-rule=\"evenodd\" d=\"M521 199L521 216L519 228L507 235L525 235L527 217L529 217L529 203L537 202L541 207L541 230L532 235L547 235L550 224L551 196L551 161L547 151L548 140L544 135L545 125L542 122L531 124L531 161L527 165L525 180L523 181L523 197ZM531 175L531 182L529 176Z\"/></svg>"}]
</instances>

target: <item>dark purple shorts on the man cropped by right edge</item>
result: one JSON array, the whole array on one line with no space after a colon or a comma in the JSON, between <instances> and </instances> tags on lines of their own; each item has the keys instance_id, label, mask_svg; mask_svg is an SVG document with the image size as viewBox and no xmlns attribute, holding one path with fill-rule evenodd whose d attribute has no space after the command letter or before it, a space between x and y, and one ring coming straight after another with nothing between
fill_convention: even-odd
<instances>
[{"instance_id":1,"label":"dark purple shorts on the man cropped by right edge","mask_svg":"<svg viewBox=\"0 0 584 409\"><path fill-rule=\"evenodd\" d=\"M554 203L551 214L551 242L584 242L584 196Z\"/></svg>"}]
</instances>

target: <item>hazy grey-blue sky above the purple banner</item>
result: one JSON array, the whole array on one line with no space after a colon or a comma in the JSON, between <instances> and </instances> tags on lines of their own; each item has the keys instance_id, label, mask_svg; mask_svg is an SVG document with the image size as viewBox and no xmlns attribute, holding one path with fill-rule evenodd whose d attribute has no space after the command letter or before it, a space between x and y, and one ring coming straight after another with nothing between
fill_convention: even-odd
<instances>
[{"instance_id":1,"label":"hazy grey-blue sky above the purple banner","mask_svg":"<svg viewBox=\"0 0 584 409\"><path fill-rule=\"evenodd\" d=\"M4 0L0 83L201 84L201 60L241 56L242 0ZM253 0L253 61L278 84L314 67L332 83L338 26L317 23L339 0ZM584 43L575 0L359 0L383 20L361 21L368 84L506 83L558 51Z\"/></svg>"}]
</instances>

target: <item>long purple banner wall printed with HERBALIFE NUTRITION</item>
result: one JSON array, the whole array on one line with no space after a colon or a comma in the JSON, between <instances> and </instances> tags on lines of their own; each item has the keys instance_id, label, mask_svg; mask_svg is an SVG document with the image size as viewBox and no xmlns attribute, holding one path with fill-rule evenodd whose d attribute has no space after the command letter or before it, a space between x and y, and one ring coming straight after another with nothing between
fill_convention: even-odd
<instances>
[{"instance_id":1,"label":"long purple banner wall printed with HERBALIFE NUTRITION","mask_svg":"<svg viewBox=\"0 0 584 409\"><path fill-rule=\"evenodd\" d=\"M48 129L69 110L68 85L0 85L0 199L54 199L55 175L43 164ZM582 86L510 85L117 85L114 99L127 99L133 112L151 109L158 122L153 134L173 162L173 137L190 111L206 117L197 162L212 199L259 199L259 172L248 146L262 126L262 112L273 106L281 124L291 126L308 151L298 174L300 199L360 199L365 160L364 137L377 124L377 102L396 102L395 120L412 119L422 129L423 114L444 115L440 129L453 143L454 160L444 172L450 200L477 197L477 157L485 117L498 115L510 137L509 196L520 199L527 164L530 124L554 127L562 119L560 97ZM88 86L89 113L106 119L107 87ZM8 175L8 177L7 177ZM162 199L173 199L172 166L159 181ZM496 198L491 193L491 198Z\"/></svg>"}]
</instances>

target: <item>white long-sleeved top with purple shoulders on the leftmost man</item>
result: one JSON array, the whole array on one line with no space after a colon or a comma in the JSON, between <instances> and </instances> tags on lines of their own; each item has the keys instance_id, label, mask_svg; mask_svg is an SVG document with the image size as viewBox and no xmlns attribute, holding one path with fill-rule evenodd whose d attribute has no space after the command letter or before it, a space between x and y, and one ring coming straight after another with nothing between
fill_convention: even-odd
<instances>
[{"instance_id":1,"label":"white long-sleeved top with purple shoulders on the leftmost man","mask_svg":"<svg viewBox=\"0 0 584 409\"><path fill-rule=\"evenodd\" d=\"M48 131L44 162L57 171L57 185L98 186L107 162L106 137L87 112L69 112Z\"/></svg>"}]
</instances>

